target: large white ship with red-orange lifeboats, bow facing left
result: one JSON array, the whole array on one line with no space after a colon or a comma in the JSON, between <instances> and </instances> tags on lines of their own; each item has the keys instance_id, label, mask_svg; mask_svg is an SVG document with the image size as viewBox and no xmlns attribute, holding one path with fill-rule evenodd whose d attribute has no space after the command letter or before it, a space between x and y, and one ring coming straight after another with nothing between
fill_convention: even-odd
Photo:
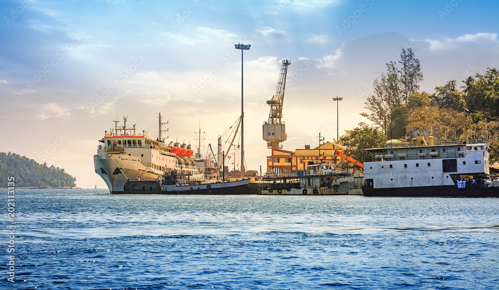
<instances>
[{"instance_id":1,"label":"large white ship with red-orange lifeboats, bow facing left","mask_svg":"<svg viewBox=\"0 0 499 290\"><path fill-rule=\"evenodd\" d=\"M191 158L194 151L190 145L163 142L161 125L165 123L161 122L161 113L156 140L145 131L137 133L135 125L127 128L126 118L123 119L122 127L114 121L114 131L105 132L94 155L95 173L104 179L110 193L124 193L127 180L160 180L165 171L190 174L191 180L204 179L196 159Z\"/></svg>"}]
</instances>

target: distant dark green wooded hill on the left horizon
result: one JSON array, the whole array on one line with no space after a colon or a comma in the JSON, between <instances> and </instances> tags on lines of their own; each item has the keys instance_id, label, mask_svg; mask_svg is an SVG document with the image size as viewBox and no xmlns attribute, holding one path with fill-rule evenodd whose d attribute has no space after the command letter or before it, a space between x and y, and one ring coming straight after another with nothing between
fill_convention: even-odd
<instances>
[{"instance_id":1,"label":"distant dark green wooded hill on the left horizon","mask_svg":"<svg viewBox=\"0 0 499 290\"><path fill-rule=\"evenodd\" d=\"M64 169L48 167L26 156L0 152L0 187L7 186L7 178L15 177L15 187L26 186L76 186L76 178L64 172Z\"/></svg>"}]
</instances>

